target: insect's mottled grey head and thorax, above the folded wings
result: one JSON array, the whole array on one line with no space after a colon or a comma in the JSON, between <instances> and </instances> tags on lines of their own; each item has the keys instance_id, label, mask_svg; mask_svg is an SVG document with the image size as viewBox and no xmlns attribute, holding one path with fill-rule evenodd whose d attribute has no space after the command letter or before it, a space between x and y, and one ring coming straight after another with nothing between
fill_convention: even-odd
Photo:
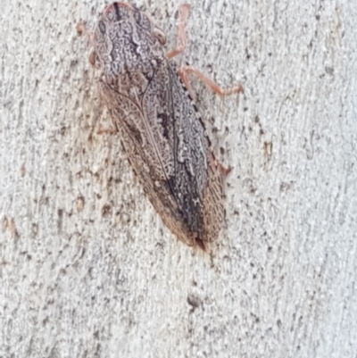
<instances>
[{"instance_id":1,"label":"insect's mottled grey head and thorax, above the folded wings","mask_svg":"<svg viewBox=\"0 0 357 358\"><path fill-rule=\"evenodd\" d=\"M154 24L144 12L112 4L95 29L95 62L108 78L140 73L146 79L165 61ZM98 65L96 63L96 65Z\"/></svg>"}]
</instances>

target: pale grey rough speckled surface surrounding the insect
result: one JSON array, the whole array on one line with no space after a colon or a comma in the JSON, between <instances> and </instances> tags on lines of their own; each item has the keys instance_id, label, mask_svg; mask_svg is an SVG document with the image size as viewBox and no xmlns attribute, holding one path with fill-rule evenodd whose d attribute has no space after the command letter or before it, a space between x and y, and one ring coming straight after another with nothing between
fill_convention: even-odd
<instances>
[{"instance_id":1,"label":"pale grey rough speckled surface surrounding the insect","mask_svg":"<svg viewBox=\"0 0 357 358\"><path fill-rule=\"evenodd\" d=\"M145 4L176 44L176 1ZM227 180L212 257L97 135L76 24L104 2L6 1L0 19L1 357L355 357L357 3L191 2L181 57ZM271 145L270 145L271 144Z\"/></svg>"}]
</instances>

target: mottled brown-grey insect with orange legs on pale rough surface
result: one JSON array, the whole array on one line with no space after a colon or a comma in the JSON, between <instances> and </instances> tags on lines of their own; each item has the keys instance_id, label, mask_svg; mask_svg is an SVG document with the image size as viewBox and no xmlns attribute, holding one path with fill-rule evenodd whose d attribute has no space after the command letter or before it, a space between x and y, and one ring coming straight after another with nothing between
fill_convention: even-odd
<instances>
[{"instance_id":1,"label":"mottled brown-grey insect with orange legs on pale rough surface","mask_svg":"<svg viewBox=\"0 0 357 358\"><path fill-rule=\"evenodd\" d=\"M181 44L164 53L165 35L132 4L113 3L87 33L89 62L122 147L145 195L164 224L188 246L206 249L220 232L225 169L215 158L187 80L194 73L220 96L221 89L193 67L169 60L186 46L188 5L180 8Z\"/></svg>"}]
</instances>

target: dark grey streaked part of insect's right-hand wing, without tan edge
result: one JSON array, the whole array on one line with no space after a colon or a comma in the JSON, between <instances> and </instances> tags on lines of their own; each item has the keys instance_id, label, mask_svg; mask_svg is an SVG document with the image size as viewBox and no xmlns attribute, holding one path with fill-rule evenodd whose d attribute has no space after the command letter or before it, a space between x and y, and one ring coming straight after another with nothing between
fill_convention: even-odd
<instances>
[{"instance_id":1,"label":"dark grey streaked part of insect's right-hand wing, without tan edge","mask_svg":"<svg viewBox=\"0 0 357 358\"><path fill-rule=\"evenodd\" d=\"M171 125L168 136L173 155L170 187L179 211L193 236L205 241L203 229L203 189L207 182L208 139L187 89L176 71L167 66L169 82L167 115ZM199 171L204 168L204 171Z\"/></svg>"}]
</instances>

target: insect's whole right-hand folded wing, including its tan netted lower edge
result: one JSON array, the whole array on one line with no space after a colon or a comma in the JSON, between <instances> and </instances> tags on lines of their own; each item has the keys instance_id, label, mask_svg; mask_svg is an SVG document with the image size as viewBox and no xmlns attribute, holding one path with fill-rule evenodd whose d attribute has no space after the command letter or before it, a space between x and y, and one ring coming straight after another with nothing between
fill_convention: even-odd
<instances>
[{"instance_id":1,"label":"insect's whole right-hand folded wing, including its tan netted lower edge","mask_svg":"<svg viewBox=\"0 0 357 358\"><path fill-rule=\"evenodd\" d=\"M173 106L179 145L176 177L178 192L185 193L185 202L179 200L182 209L189 207L195 216L187 216L187 222L195 233L196 242L211 242L217 238L223 223L223 178L215 161L210 140L206 135L203 121L195 103L182 84L176 71L170 68L172 104L181 101L179 110ZM183 176L185 182L180 181ZM188 212L189 215L189 212Z\"/></svg>"}]
</instances>

